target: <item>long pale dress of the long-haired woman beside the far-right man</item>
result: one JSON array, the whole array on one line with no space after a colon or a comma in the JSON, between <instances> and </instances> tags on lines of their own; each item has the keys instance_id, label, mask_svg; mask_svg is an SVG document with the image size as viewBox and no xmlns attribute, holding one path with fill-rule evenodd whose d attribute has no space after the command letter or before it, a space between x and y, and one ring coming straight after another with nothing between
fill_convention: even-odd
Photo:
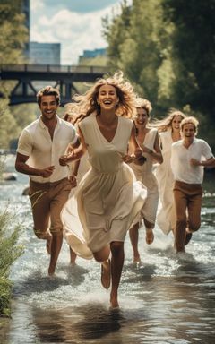
<instances>
[{"instance_id":1,"label":"long pale dress of the long-haired woman beside the far-right man","mask_svg":"<svg viewBox=\"0 0 215 344\"><path fill-rule=\"evenodd\" d=\"M159 211L157 223L164 234L176 226L176 211L173 196L174 177L170 167L172 133L171 130L159 133L159 140L162 147L163 163L156 168L155 175L159 183Z\"/></svg>"}]
</instances>

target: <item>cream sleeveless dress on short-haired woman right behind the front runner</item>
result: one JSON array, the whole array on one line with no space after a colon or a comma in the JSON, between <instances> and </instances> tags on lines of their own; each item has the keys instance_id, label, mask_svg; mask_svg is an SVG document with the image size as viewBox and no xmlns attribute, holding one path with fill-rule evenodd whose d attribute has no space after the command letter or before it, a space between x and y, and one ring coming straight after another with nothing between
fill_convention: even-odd
<instances>
[{"instance_id":1,"label":"cream sleeveless dress on short-haired woman right behind the front runner","mask_svg":"<svg viewBox=\"0 0 215 344\"><path fill-rule=\"evenodd\" d=\"M157 133L157 129L151 128L150 131L145 135L143 142L144 146L150 150L153 150ZM141 211L142 217L154 224L159 203L158 182L152 170L153 159L148 153L143 153L143 155L146 158L146 161L143 165L136 165L132 163L130 166L133 168L136 179L140 180L147 188L147 198Z\"/></svg>"}]
</instances>

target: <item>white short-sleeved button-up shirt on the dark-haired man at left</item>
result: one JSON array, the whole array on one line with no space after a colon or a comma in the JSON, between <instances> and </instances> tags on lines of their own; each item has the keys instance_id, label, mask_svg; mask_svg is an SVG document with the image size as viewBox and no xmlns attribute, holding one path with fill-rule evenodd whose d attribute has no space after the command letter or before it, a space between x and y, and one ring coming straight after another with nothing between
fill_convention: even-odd
<instances>
[{"instance_id":1,"label":"white short-sleeved button-up shirt on the dark-haired man at left","mask_svg":"<svg viewBox=\"0 0 215 344\"><path fill-rule=\"evenodd\" d=\"M69 143L77 141L76 131L69 122L56 115L56 128L51 139L47 126L39 119L23 129L18 142L17 152L29 157L28 164L32 168L55 166L51 176L30 176L30 180L38 183L56 182L68 176L67 168L60 166L59 158Z\"/></svg>"}]
</instances>

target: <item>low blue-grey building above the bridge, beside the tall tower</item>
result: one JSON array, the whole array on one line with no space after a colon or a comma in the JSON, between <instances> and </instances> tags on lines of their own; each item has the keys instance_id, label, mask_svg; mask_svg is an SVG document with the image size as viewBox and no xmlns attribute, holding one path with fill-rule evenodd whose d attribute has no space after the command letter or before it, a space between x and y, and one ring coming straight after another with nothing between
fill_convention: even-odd
<instances>
[{"instance_id":1,"label":"low blue-grey building above the bridge, beside the tall tower","mask_svg":"<svg viewBox=\"0 0 215 344\"><path fill-rule=\"evenodd\" d=\"M30 64L61 64L60 43L30 42Z\"/></svg>"}]
</instances>

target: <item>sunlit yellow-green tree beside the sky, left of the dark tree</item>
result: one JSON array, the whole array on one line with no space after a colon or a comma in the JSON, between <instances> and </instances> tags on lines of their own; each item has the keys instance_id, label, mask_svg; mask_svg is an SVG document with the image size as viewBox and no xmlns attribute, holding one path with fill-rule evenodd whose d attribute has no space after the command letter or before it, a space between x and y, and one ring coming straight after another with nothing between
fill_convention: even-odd
<instances>
[{"instance_id":1,"label":"sunlit yellow-green tree beside the sky, left of the dark tree","mask_svg":"<svg viewBox=\"0 0 215 344\"><path fill-rule=\"evenodd\" d=\"M164 25L161 0L133 0L122 13L105 19L107 56L113 68L122 69L136 90L153 107L172 98L174 68L171 61L171 24Z\"/></svg>"}]
</instances>

